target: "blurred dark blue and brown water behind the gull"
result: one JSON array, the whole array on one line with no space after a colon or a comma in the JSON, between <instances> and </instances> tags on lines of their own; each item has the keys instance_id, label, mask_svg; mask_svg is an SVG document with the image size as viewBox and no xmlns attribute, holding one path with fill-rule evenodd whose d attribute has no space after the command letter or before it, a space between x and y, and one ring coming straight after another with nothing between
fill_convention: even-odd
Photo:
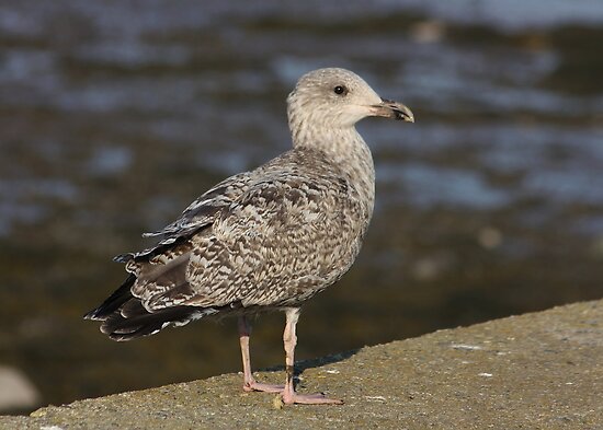
<instances>
[{"instance_id":1,"label":"blurred dark blue and brown water behind the gull","mask_svg":"<svg viewBox=\"0 0 603 430\"><path fill-rule=\"evenodd\" d=\"M602 46L594 0L1 2L0 364L38 405L238 371L234 321L116 344L81 315L141 232L289 148L285 97L327 66L417 124L360 125L376 213L297 358L601 298ZM254 367L282 329L257 322Z\"/></svg>"}]
</instances>

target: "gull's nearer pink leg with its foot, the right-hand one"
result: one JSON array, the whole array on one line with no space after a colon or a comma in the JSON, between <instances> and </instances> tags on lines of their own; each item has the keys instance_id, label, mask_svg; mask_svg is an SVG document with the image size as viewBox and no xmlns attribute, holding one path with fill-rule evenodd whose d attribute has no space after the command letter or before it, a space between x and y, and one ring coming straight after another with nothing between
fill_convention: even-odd
<instances>
[{"instance_id":1,"label":"gull's nearer pink leg with its foot, the right-hand one","mask_svg":"<svg viewBox=\"0 0 603 430\"><path fill-rule=\"evenodd\" d=\"M331 404L341 405L342 400L327 398L323 394L297 394L294 386L294 363L295 363L295 345L297 344L297 336L295 334L295 326L297 319L299 319L299 309L288 309L286 311L287 322L285 324L285 332L283 334L283 342L285 345L285 371L286 382L285 390L283 390L281 396L283 403L287 405L292 404L306 404L306 405L320 405Z\"/></svg>"}]
</instances>

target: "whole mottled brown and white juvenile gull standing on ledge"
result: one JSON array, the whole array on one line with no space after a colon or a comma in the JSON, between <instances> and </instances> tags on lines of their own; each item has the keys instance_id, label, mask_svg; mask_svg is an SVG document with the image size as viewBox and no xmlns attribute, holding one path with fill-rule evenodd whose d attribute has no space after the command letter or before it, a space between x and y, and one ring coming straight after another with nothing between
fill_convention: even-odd
<instances>
[{"instance_id":1,"label":"whole mottled brown and white juvenile gull standing on ledge","mask_svg":"<svg viewBox=\"0 0 603 430\"><path fill-rule=\"evenodd\" d=\"M367 116L414 121L344 69L303 75L287 98L293 149L203 194L156 233L156 246L123 254L125 282L86 318L130 340L209 315L238 316L243 390L285 404L340 404L294 387L295 327L304 302L352 266L375 199L368 147L354 125ZM248 316L285 312L285 385L254 380Z\"/></svg>"}]
</instances>

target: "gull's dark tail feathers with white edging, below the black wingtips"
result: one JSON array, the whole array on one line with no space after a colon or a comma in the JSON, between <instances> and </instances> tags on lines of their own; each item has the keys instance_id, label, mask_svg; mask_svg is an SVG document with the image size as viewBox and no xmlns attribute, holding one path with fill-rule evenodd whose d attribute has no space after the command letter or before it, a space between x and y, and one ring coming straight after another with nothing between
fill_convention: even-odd
<instances>
[{"instance_id":1,"label":"gull's dark tail feathers with white edging, below the black wingtips","mask_svg":"<svg viewBox=\"0 0 603 430\"><path fill-rule=\"evenodd\" d=\"M113 313L103 322L101 332L113 340L132 340L155 335L169 326L185 325L217 312L212 307L173 306L150 313L137 299L133 299L122 311Z\"/></svg>"}]
</instances>

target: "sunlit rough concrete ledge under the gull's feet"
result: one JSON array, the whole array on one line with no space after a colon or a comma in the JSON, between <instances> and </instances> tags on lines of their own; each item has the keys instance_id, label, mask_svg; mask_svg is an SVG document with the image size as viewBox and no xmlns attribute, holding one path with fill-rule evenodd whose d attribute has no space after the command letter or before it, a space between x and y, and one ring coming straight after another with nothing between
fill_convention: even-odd
<instances>
[{"instance_id":1,"label":"sunlit rough concrete ledge under the gull's feet","mask_svg":"<svg viewBox=\"0 0 603 430\"><path fill-rule=\"evenodd\" d=\"M362 348L299 365L343 406L277 409L241 376L49 406L2 429L602 429L603 301ZM262 381L283 373L260 372Z\"/></svg>"}]
</instances>

